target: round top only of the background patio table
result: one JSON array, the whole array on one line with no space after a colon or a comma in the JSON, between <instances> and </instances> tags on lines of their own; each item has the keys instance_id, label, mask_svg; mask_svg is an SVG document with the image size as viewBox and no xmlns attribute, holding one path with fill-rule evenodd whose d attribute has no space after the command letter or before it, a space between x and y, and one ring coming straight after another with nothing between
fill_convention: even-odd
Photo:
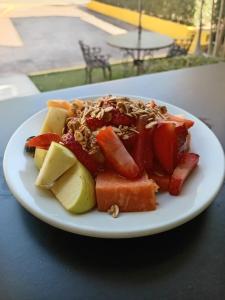
<instances>
[{"instance_id":1,"label":"round top only of the background patio table","mask_svg":"<svg viewBox=\"0 0 225 300\"><path fill-rule=\"evenodd\" d=\"M127 50L159 50L173 44L174 40L169 36L156 32L142 31L141 41L138 41L138 31L110 36L107 43L110 46Z\"/></svg>"}]
</instances>

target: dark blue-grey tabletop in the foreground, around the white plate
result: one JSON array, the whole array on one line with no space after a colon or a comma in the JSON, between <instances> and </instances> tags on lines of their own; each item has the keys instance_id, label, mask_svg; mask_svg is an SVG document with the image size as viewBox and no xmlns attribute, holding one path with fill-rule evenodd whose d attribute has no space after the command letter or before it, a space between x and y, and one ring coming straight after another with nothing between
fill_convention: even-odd
<instances>
[{"instance_id":1,"label":"dark blue-grey tabletop in the foreground, around the white plate","mask_svg":"<svg viewBox=\"0 0 225 300\"><path fill-rule=\"evenodd\" d=\"M11 134L47 99L109 93L176 104L206 118L225 146L224 83L221 63L2 101L0 162ZM0 172L0 299L224 299L224 186L204 213L179 228L107 240L39 221L11 195L2 166Z\"/></svg>"}]
</instances>

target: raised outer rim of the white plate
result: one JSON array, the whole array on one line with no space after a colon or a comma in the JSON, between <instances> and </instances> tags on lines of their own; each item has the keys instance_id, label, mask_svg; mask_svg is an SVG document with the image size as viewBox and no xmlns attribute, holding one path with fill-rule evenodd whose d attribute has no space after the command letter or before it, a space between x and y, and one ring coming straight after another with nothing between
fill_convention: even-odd
<instances>
[{"instance_id":1,"label":"raised outer rim of the white plate","mask_svg":"<svg viewBox=\"0 0 225 300\"><path fill-rule=\"evenodd\" d=\"M103 97L106 96L108 94L98 94L98 95L87 95L87 96L83 96L83 97L77 97L79 99L83 99L83 100L87 100L87 99L95 99L98 97ZM30 119L32 119L33 117L35 117L38 114L42 114L44 111L47 111L47 108L44 108L38 112L36 112L35 114L31 115L29 118L27 118L12 134L12 136L10 137L7 146L5 148L4 151L4 156L3 156L3 174L6 180L6 183L11 191L11 193L13 194L13 196L16 198L16 200L22 205L23 208L25 208L28 212L30 212L33 216L37 217L39 220L54 226L56 228L59 228L61 230L67 231L67 232L71 232L71 233L75 233L75 234L79 234L79 235L84 235L84 236L90 236L90 237L98 237L98 238L135 238L135 237L141 237L141 236L148 236L148 235L154 235L154 234L158 234L161 232L165 232L168 230L171 230L173 228L176 228L178 226L181 226L182 224L194 219L195 217L197 217L201 212L203 212L215 199L216 195L218 194L218 192L221 189L221 186L223 184L224 178L225 178L225 156L224 156L224 150L223 147L218 139L218 137L215 135L215 133L209 129L207 127L206 124L204 124L204 122L202 122L199 118L197 118L196 116L194 116L193 114L189 113L188 111L184 110L183 108L180 108L179 106L176 106L174 104L165 102L165 101L161 101L152 97L143 97L143 96L137 96L137 95L127 95L127 94L116 94L113 93L113 96L126 96L129 98L139 98L142 99L144 101L149 100L149 99L154 99L159 103L163 103L165 105L169 105L174 107L175 109L179 109L179 111L185 113L188 113L191 117L193 117L193 119L196 119L198 122L202 123L205 128L207 128L207 130L211 131L211 134L214 136L215 141L217 142L217 146L219 146L222 157L223 157L223 175L220 178L220 182L217 183L217 189L214 190L214 193L211 195L211 197L204 202L204 204L202 206L200 206L198 209L195 209L194 212L190 211L189 213L186 213L184 215L179 216L178 218L175 218L173 221L168 221L167 223L164 223L156 228L145 228L145 229L136 229L136 230L132 230L132 231L124 231L124 230L95 230L91 227L87 227L87 226L83 226L83 227L74 227L71 226L69 224L64 224L61 220L55 220L53 217L51 216L46 216L45 214L41 213L39 210L35 210L33 209L31 206L29 206L29 204L24 201L23 197L21 197L14 189L13 184L10 180L10 176L8 174L7 171L7 167L6 167L6 163L7 163L7 149L8 147L10 147L11 141L13 140L14 136L16 136L17 132L20 130L21 127L23 127L27 122L29 123ZM70 101L70 100L68 100Z\"/></svg>"}]
</instances>

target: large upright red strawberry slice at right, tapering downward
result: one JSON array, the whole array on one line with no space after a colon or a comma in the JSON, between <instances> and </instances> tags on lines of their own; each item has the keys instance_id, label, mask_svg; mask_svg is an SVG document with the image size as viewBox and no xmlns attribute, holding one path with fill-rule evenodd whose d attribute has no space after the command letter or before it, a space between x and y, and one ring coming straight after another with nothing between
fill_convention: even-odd
<instances>
[{"instance_id":1,"label":"large upright red strawberry slice at right, tapering downward","mask_svg":"<svg viewBox=\"0 0 225 300\"><path fill-rule=\"evenodd\" d=\"M176 167L180 152L184 151L183 145L188 136L184 124L174 122L161 122L154 129L153 150L163 170L172 174Z\"/></svg>"}]
</instances>

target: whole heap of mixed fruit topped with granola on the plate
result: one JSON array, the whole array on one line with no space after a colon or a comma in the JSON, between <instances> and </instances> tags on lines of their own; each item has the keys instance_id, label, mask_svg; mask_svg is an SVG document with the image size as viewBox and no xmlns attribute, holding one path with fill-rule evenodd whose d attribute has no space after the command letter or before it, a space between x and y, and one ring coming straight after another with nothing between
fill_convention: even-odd
<instances>
[{"instance_id":1,"label":"whole heap of mixed fruit topped with granola on the plate","mask_svg":"<svg viewBox=\"0 0 225 300\"><path fill-rule=\"evenodd\" d=\"M197 166L190 152L192 120L156 101L104 96L49 100L40 134L26 141L39 170L37 188L49 189L72 213L157 208L159 192L178 196Z\"/></svg>"}]
</instances>

